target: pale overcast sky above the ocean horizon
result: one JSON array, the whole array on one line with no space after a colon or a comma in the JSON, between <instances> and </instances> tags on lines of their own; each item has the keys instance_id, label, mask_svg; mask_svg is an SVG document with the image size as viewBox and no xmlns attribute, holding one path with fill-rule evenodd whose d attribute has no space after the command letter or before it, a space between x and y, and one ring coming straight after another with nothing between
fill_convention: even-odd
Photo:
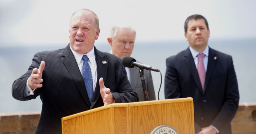
<instances>
[{"instance_id":1,"label":"pale overcast sky above the ocean horizon","mask_svg":"<svg viewBox=\"0 0 256 134\"><path fill-rule=\"evenodd\" d=\"M114 25L133 27L136 41L185 40L192 14L206 17L210 39L256 38L255 0L0 0L0 47L66 46L71 14L81 8L99 17L98 43L107 43Z\"/></svg>"}]
</instances>

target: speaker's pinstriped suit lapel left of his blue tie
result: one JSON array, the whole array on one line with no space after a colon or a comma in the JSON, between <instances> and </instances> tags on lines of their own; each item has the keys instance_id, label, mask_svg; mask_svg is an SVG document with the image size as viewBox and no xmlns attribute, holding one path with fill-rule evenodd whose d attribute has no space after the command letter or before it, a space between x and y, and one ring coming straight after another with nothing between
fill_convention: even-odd
<instances>
[{"instance_id":1,"label":"speaker's pinstriped suit lapel left of his blue tie","mask_svg":"<svg viewBox=\"0 0 256 134\"><path fill-rule=\"evenodd\" d=\"M76 59L75 59L72 51L70 50L69 45L64 48L62 56L63 56L62 61L65 65L65 67L67 68L71 77L74 79L78 90L80 91L81 95L83 96L84 100L86 101L86 104L90 107L91 104L89 101L88 94L86 92L83 77L81 75L81 72L80 72L78 66L74 66L74 65L77 65L77 63L76 63Z\"/></svg>"}]
</instances>

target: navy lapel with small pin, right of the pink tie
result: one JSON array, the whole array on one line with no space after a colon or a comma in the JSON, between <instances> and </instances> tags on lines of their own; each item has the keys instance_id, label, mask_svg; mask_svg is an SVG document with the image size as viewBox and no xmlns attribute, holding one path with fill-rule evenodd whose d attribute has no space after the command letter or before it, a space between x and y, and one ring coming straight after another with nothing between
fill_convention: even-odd
<instances>
[{"instance_id":1,"label":"navy lapel with small pin, right of the pink tie","mask_svg":"<svg viewBox=\"0 0 256 134\"><path fill-rule=\"evenodd\" d=\"M209 47L209 57L208 57L207 70L206 70L206 76L205 76L204 92L207 89L207 85L210 81L213 69L217 61L217 59L214 59L215 56L216 56L215 51Z\"/></svg>"}]
</instances>

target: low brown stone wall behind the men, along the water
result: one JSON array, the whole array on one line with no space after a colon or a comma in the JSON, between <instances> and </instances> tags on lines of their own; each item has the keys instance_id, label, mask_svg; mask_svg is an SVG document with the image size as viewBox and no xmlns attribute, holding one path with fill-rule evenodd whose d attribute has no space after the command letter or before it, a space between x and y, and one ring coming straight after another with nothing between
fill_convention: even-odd
<instances>
[{"instance_id":1,"label":"low brown stone wall behind the men, along the water","mask_svg":"<svg viewBox=\"0 0 256 134\"><path fill-rule=\"evenodd\" d=\"M34 134L40 112L1 114L0 134ZM240 103L231 122L233 134L256 134L256 102Z\"/></svg>"}]
</instances>

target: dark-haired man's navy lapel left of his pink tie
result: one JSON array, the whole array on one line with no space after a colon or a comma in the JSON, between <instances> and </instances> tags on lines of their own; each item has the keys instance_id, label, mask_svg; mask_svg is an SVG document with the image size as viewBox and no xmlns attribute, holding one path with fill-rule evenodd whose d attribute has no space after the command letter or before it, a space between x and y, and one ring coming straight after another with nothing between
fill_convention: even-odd
<instances>
[{"instance_id":1,"label":"dark-haired man's navy lapel left of his pink tie","mask_svg":"<svg viewBox=\"0 0 256 134\"><path fill-rule=\"evenodd\" d=\"M200 79L199 79L199 76L198 76L198 73L197 73L196 65L195 65L194 59L192 57L192 54L191 54L189 48L187 48L185 50L184 57L185 57L184 61L187 65L189 71L191 72L191 75L192 75L194 81L196 82L196 86L198 87L199 91L201 93L203 93L201 83L200 83Z\"/></svg>"}]
</instances>

